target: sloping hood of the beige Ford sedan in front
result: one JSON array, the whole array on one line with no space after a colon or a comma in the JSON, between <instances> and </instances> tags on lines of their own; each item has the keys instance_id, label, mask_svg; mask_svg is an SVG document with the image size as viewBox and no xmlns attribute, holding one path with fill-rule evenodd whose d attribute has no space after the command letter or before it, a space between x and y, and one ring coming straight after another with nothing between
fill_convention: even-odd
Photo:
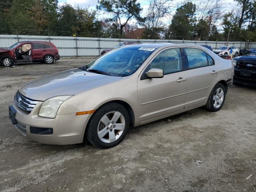
<instances>
[{"instance_id":1,"label":"sloping hood of the beige Ford sedan in front","mask_svg":"<svg viewBox=\"0 0 256 192\"><path fill-rule=\"evenodd\" d=\"M76 95L116 82L121 78L86 72L77 68L28 82L19 88L19 92L27 98L44 101L59 95Z\"/></svg>"}]
</instances>

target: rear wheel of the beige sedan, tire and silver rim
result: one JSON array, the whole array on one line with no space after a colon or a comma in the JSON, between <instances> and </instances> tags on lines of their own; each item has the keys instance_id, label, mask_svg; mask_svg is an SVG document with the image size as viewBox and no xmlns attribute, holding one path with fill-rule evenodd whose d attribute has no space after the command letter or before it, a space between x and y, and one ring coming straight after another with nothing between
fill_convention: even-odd
<instances>
[{"instance_id":1,"label":"rear wheel of the beige sedan, tire and silver rim","mask_svg":"<svg viewBox=\"0 0 256 192\"><path fill-rule=\"evenodd\" d=\"M220 96L221 95L221 96ZM205 105L209 111L218 111L222 108L226 98L226 89L223 84L217 83L208 98Z\"/></svg>"}]
</instances>

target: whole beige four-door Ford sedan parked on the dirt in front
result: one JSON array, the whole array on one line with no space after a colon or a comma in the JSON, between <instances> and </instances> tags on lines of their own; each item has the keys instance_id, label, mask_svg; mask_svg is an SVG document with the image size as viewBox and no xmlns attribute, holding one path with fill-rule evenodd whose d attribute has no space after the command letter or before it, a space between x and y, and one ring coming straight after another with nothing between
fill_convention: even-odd
<instances>
[{"instance_id":1,"label":"whole beige four-door Ford sedan parked on the dirt in front","mask_svg":"<svg viewBox=\"0 0 256 192\"><path fill-rule=\"evenodd\" d=\"M234 66L202 46L138 44L26 83L9 106L17 130L44 144L119 144L129 127L222 108Z\"/></svg>"}]
</instances>

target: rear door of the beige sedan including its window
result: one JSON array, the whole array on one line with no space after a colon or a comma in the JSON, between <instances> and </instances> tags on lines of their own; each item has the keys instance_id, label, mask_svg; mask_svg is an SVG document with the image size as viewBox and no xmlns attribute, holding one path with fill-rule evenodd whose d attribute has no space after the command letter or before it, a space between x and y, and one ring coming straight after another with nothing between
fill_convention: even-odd
<instances>
[{"instance_id":1,"label":"rear door of the beige sedan including its window","mask_svg":"<svg viewBox=\"0 0 256 192\"><path fill-rule=\"evenodd\" d=\"M214 60L199 48L184 47L188 72L188 92L185 108L204 103L218 82Z\"/></svg>"}]
</instances>

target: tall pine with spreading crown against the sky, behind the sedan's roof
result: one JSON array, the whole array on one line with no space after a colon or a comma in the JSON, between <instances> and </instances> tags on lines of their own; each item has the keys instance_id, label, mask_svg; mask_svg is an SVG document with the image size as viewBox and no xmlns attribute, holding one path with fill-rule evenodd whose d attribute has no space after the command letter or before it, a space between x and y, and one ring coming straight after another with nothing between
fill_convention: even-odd
<instances>
[{"instance_id":1,"label":"tall pine with spreading crown against the sky, behind the sedan's roof","mask_svg":"<svg viewBox=\"0 0 256 192\"><path fill-rule=\"evenodd\" d=\"M143 18L140 16L142 8L137 0L98 0L96 6L98 10L103 10L114 15L114 20L119 23L119 34L122 36L123 28L126 26L131 18L135 18L138 21L142 21ZM122 19L125 21L122 22Z\"/></svg>"}]
</instances>

